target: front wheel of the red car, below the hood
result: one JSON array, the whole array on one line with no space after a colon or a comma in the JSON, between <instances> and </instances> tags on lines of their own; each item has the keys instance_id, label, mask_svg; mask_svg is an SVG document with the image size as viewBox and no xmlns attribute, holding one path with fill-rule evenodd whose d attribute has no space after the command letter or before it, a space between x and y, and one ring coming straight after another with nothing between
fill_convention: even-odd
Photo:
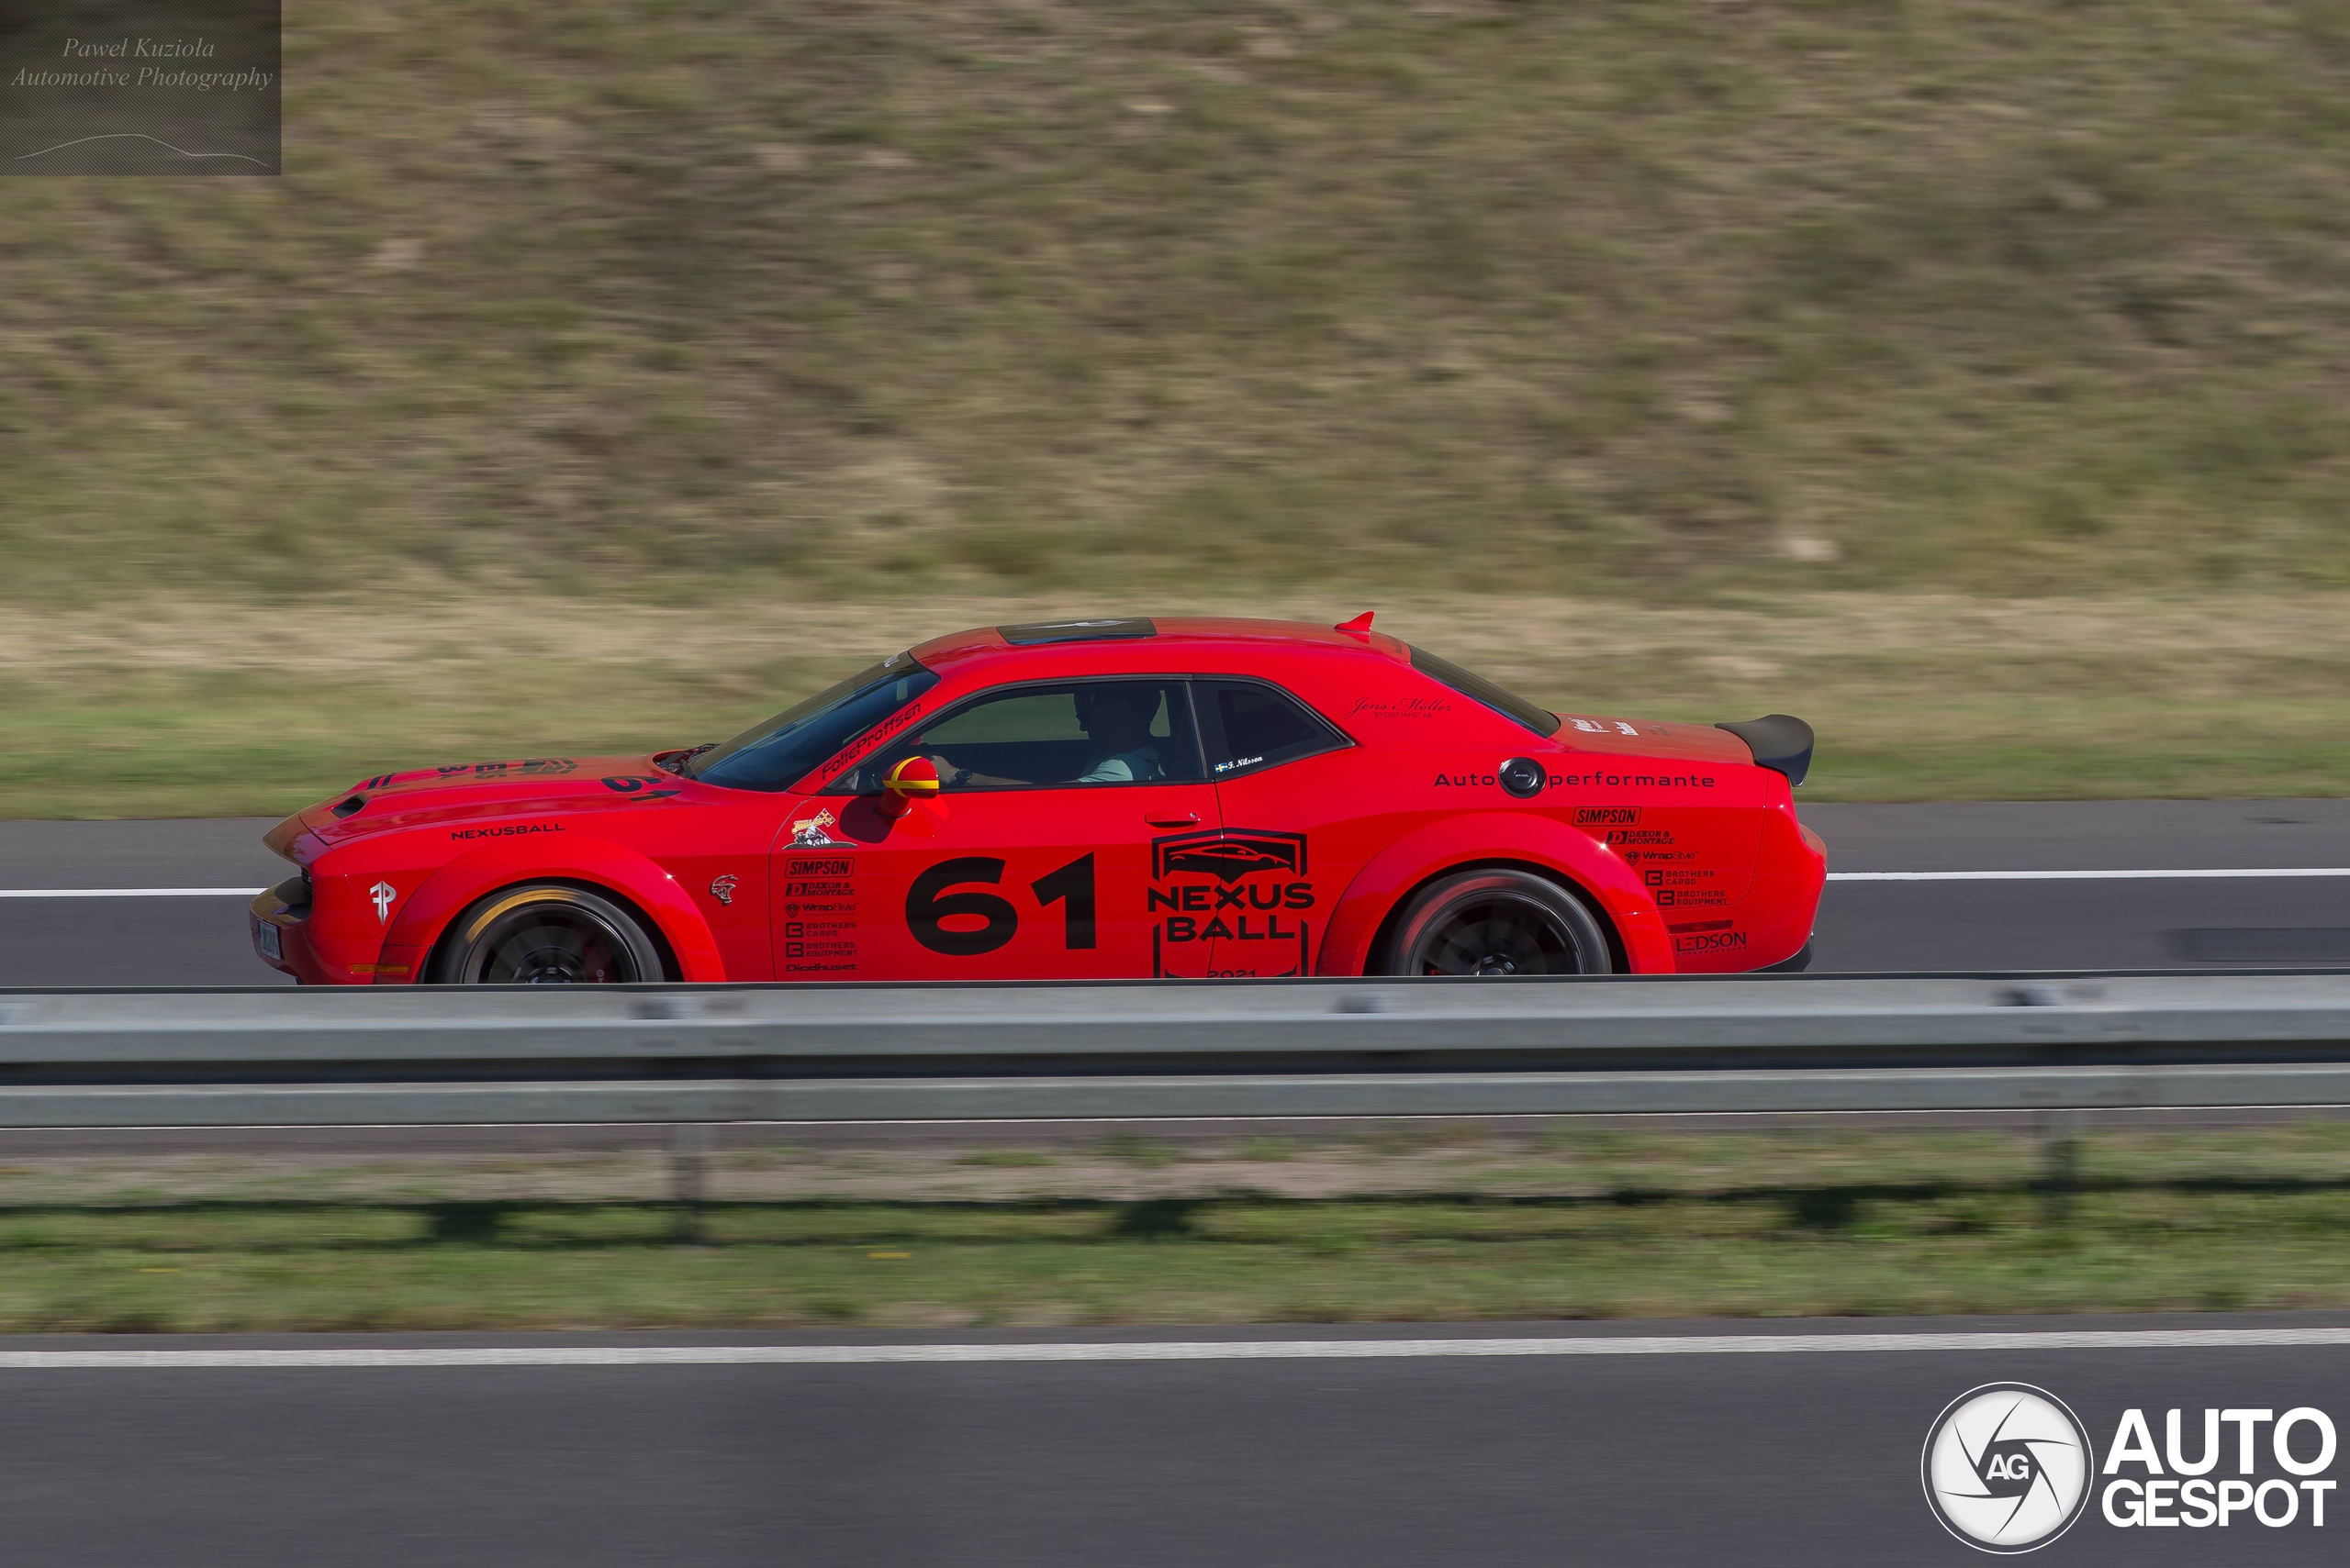
<instances>
[{"instance_id":1,"label":"front wheel of the red car, below the hood","mask_svg":"<svg viewBox=\"0 0 2350 1568\"><path fill-rule=\"evenodd\" d=\"M444 986L625 986L667 979L660 951L625 908L562 883L479 899L442 939Z\"/></svg>"}]
</instances>

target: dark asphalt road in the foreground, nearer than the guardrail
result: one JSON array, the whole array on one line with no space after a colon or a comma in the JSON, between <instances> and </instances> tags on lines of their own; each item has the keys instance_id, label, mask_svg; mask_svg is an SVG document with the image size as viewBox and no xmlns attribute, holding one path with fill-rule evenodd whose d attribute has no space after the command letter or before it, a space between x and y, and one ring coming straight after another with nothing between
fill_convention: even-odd
<instances>
[{"instance_id":1,"label":"dark asphalt road in the foreground, nearer than the guardrail","mask_svg":"<svg viewBox=\"0 0 2350 1568\"><path fill-rule=\"evenodd\" d=\"M2244 1329L2294 1319L1943 1319L1483 1326L1469 1338ZM1462 1329L959 1336L1452 1340ZM827 1343L858 1336L827 1336ZM867 1336L874 1343L879 1336ZM797 1336L811 1343L813 1336ZM242 1340L383 1347L421 1340ZM580 1350L794 1336L435 1340ZM33 1345L0 1343L5 1352ZM45 1340L169 1350L190 1340ZM2350 1345L1638 1352L846 1366L0 1366L12 1561L858 1563L1979 1563L1932 1519L1920 1448L1958 1394L2021 1380L2099 1455L2122 1411L2298 1406L2350 1418ZM2237 1472L2223 1427L2216 1476ZM2287 1481L2258 1432L2251 1483ZM2298 1460L2315 1432L2301 1427ZM2317 1479L2343 1476L2336 1453ZM2143 1476L2131 1465L2122 1474ZM2099 1476L2103 1481L2103 1476ZM2324 1526L2117 1528L2089 1512L2052 1563L2317 1563ZM2282 1514L2282 1495L2268 1498Z\"/></svg>"}]
</instances>

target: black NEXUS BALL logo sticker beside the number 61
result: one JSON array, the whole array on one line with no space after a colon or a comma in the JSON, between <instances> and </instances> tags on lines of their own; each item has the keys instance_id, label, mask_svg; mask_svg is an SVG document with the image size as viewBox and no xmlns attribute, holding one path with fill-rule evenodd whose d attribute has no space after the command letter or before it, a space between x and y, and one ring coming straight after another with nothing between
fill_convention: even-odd
<instances>
[{"instance_id":1,"label":"black NEXUS BALL logo sticker beside the number 61","mask_svg":"<svg viewBox=\"0 0 2350 1568\"><path fill-rule=\"evenodd\" d=\"M1152 885L1142 894L1152 974L1307 974L1314 962L1307 871L1304 833L1208 829L1154 838Z\"/></svg>"}]
</instances>

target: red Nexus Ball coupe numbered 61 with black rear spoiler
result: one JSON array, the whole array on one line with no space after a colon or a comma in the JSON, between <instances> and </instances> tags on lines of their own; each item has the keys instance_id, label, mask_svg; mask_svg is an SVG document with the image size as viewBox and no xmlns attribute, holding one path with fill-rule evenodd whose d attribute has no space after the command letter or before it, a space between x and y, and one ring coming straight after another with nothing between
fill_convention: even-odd
<instances>
[{"instance_id":1,"label":"red Nexus Ball coupe numbered 61 with black rear spoiler","mask_svg":"<svg viewBox=\"0 0 2350 1568\"><path fill-rule=\"evenodd\" d=\"M1812 730L1558 716L1370 629L959 631L724 744L385 772L254 901L308 984L1802 967Z\"/></svg>"}]
</instances>

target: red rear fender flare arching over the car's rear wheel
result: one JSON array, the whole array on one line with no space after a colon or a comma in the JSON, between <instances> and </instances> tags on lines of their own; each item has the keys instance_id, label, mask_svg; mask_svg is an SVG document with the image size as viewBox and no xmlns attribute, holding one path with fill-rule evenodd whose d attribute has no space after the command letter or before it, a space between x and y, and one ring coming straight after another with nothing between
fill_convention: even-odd
<instances>
[{"instance_id":1,"label":"red rear fender flare arching over the car's rear wheel","mask_svg":"<svg viewBox=\"0 0 2350 1568\"><path fill-rule=\"evenodd\" d=\"M1518 812L1448 817L1379 850L1340 894L1314 972L1363 974L1379 925L1412 887L1483 861L1525 861L1574 883L1614 925L1633 974L1673 974L1673 939L1638 873L1589 833Z\"/></svg>"}]
</instances>

